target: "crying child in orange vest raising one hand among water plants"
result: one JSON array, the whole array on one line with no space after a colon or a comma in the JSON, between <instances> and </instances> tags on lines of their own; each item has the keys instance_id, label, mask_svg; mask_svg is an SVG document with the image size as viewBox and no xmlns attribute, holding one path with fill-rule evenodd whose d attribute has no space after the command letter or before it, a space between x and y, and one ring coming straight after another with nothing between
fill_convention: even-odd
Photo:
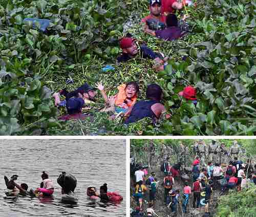
<instances>
[{"instance_id":1,"label":"crying child in orange vest raising one hand among water plants","mask_svg":"<svg viewBox=\"0 0 256 217\"><path fill-rule=\"evenodd\" d=\"M104 86L101 82L97 84L97 88L100 90L105 103L110 105L109 108L106 108L103 111L116 111L118 113L125 113L131 106L133 106L137 101L139 92L139 85L134 81L121 84L118 87L118 93L110 98L106 95Z\"/></svg>"}]
</instances>

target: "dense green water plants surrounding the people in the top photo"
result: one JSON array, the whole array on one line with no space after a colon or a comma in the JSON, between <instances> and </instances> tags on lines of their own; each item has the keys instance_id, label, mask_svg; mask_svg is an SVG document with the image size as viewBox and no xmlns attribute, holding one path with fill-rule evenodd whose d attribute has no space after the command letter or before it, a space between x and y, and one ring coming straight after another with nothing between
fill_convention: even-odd
<instances>
[{"instance_id":1,"label":"dense green water plants surrounding the people in the top photo","mask_svg":"<svg viewBox=\"0 0 256 217\"><path fill-rule=\"evenodd\" d=\"M193 34L165 42L142 32L141 17L148 14L147 0L110 1L4 1L0 6L0 134L49 135L254 135L256 24L253 0L197 1L188 8ZM115 64L120 52L122 24L135 13L129 29L154 51L170 56L161 73L152 61L135 58ZM178 14L180 17L180 14ZM23 23L25 17L53 22L44 34ZM182 57L187 56L185 61ZM112 63L114 71L101 68ZM172 74L173 69L176 74ZM90 110L94 119L62 123L56 120L51 93L84 82L103 81L109 94L126 81L138 81L139 99L146 85L164 89L164 105L172 118L152 125L143 119L125 127L99 113L99 99ZM188 84L198 90L199 102L181 102L178 92ZM179 108L173 105L181 105ZM61 110L61 113L65 112Z\"/></svg>"}]
</instances>

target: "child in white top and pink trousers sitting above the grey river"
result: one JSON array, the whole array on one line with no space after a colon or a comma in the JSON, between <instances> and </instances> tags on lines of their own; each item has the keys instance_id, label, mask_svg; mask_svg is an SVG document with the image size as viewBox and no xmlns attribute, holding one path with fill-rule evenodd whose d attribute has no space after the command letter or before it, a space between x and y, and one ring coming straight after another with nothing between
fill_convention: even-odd
<instances>
[{"instance_id":1,"label":"child in white top and pink trousers sitting above the grey river","mask_svg":"<svg viewBox=\"0 0 256 217\"><path fill-rule=\"evenodd\" d=\"M36 188L34 194L37 194L39 192L39 196L51 196L54 191L52 180L49 179L49 176L45 171L42 172L41 178L42 182L40 184L40 187Z\"/></svg>"}]
</instances>

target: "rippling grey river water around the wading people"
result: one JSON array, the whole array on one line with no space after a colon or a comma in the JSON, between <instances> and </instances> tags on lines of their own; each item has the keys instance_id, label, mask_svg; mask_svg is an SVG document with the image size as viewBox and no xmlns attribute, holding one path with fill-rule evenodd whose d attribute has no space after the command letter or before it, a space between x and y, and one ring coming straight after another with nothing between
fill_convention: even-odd
<instances>
[{"instance_id":1,"label":"rippling grey river water around the wading people","mask_svg":"<svg viewBox=\"0 0 256 217\"><path fill-rule=\"evenodd\" d=\"M122 139L0 139L0 216L125 216L125 140ZM17 174L17 183L30 188L40 186L41 172L54 183L53 199L5 196L4 175ZM57 177L62 171L77 179L75 205L61 203ZM87 187L99 191L108 183L108 191L123 196L120 204L92 202Z\"/></svg>"}]
</instances>

